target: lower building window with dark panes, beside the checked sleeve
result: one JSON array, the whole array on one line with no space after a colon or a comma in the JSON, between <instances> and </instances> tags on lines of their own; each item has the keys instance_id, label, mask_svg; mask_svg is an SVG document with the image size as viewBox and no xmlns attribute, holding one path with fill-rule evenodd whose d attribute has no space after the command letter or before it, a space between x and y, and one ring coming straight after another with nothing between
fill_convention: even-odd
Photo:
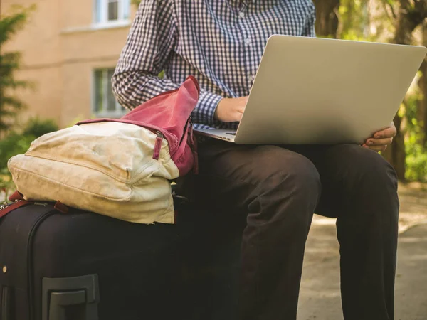
<instances>
[{"instance_id":1,"label":"lower building window with dark panes, beside the checked sleeve","mask_svg":"<svg viewBox=\"0 0 427 320\"><path fill-rule=\"evenodd\" d=\"M96 117L122 117L127 110L112 94L111 78L113 69L97 69L94 72L93 112Z\"/></svg>"}]
</instances>

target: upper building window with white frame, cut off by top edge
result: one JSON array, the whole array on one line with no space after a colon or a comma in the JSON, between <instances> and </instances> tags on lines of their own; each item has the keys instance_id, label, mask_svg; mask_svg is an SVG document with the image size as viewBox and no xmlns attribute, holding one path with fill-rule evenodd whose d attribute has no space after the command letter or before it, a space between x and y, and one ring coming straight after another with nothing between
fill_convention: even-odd
<instances>
[{"instance_id":1,"label":"upper building window with white frame, cut off by top edge","mask_svg":"<svg viewBox=\"0 0 427 320\"><path fill-rule=\"evenodd\" d=\"M95 22L110 24L129 21L130 0L95 0Z\"/></svg>"}]
</instances>

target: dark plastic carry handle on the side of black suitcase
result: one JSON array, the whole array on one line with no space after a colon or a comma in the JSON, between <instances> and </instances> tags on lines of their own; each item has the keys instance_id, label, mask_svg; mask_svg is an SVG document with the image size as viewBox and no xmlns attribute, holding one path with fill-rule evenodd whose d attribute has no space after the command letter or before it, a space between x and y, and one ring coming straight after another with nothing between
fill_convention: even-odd
<instances>
[{"instance_id":1,"label":"dark plastic carry handle on the side of black suitcase","mask_svg":"<svg viewBox=\"0 0 427 320\"><path fill-rule=\"evenodd\" d=\"M43 278L42 320L98 320L97 274L72 278ZM68 310L73 309L69 318Z\"/></svg>"}]
</instances>

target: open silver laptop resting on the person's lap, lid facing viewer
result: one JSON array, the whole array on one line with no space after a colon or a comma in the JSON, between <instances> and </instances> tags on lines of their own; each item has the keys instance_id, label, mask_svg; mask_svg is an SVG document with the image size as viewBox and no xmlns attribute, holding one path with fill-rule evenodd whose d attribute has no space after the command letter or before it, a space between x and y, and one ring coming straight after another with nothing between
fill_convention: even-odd
<instances>
[{"instance_id":1,"label":"open silver laptop resting on the person's lap, lid facing viewer","mask_svg":"<svg viewBox=\"0 0 427 320\"><path fill-rule=\"evenodd\" d=\"M268 39L236 144L362 144L389 127L427 48L298 36Z\"/></svg>"}]
</instances>

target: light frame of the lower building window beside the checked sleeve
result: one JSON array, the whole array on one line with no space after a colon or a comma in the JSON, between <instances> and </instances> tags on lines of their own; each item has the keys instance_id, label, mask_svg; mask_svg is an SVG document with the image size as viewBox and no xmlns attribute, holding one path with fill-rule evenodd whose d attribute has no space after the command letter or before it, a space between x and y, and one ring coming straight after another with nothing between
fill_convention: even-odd
<instances>
[{"instance_id":1,"label":"light frame of the lower building window beside the checked sleeve","mask_svg":"<svg viewBox=\"0 0 427 320\"><path fill-rule=\"evenodd\" d=\"M114 97L115 100L115 110L109 111L108 110L108 92L112 92L112 90L108 89L108 85L111 83L108 80L108 73L110 70L114 70L115 68L94 68L92 70L92 114L95 115L97 118L120 118L123 117L128 111L120 105L119 102L117 102L117 99ZM98 83L97 83L97 72L102 71L102 92L105 92L104 95L102 95L102 111L97 111L97 102L98 102L98 96L99 92L97 92L98 89Z\"/></svg>"}]
</instances>

